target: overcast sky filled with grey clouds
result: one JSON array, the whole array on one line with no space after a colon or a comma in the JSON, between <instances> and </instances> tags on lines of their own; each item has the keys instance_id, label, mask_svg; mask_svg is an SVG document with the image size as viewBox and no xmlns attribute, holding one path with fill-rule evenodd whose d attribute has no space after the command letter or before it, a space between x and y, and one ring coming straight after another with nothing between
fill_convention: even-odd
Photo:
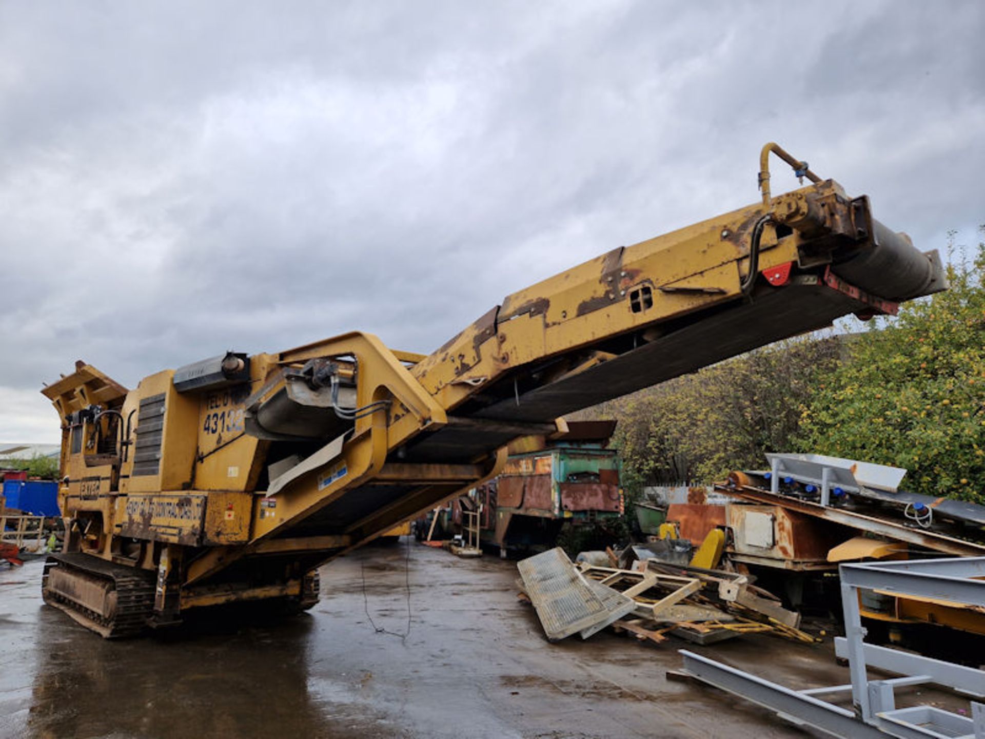
<instances>
[{"instance_id":1,"label":"overcast sky filled with grey clouds","mask_svg":"<svg viewBox=\"0 0 985 739\"><path fill-rule=\"evenodd\" d=\"M0 0L0 440L58 440L38 390L77 359L430 352L755 202L768 140L974 243L983 38L972 1Z\"/></svg>"}]
</instances>

